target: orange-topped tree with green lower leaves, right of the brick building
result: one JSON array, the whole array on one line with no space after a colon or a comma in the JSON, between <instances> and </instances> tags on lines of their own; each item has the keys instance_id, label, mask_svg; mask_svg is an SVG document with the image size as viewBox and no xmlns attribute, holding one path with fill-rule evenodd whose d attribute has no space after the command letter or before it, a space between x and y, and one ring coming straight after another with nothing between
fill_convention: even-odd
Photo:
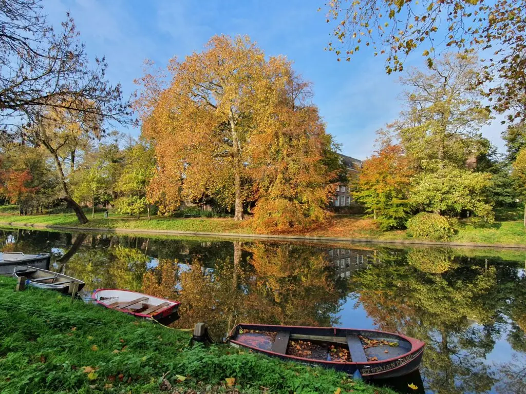
<instances>
[{"instance_id":1,"label":"orange-topped tree with green lower leaves, right of the brick building","mask_svg":"<svg viewBox=\"0 0 526 394\"><path fill-rule=\"evenodd\" d=\"M391 143L363 162L353 196L380 221L383 230L401 227L408 218L411 166L403 148Z\"/></svg>"}]
</instances>

